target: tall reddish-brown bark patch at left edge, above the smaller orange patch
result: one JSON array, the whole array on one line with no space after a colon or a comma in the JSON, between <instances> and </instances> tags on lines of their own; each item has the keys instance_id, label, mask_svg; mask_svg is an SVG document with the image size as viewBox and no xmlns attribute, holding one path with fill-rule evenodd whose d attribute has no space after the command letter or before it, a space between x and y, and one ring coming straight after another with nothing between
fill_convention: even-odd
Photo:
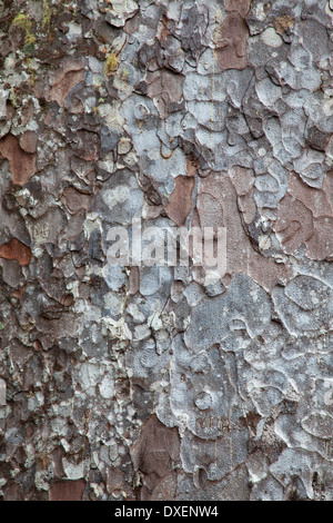
<instances>
[{"instance_id":1,"label":"tall reddish-brown bark patch at left edge, above the smaller orange patch","mask_svg":"<svg viewBox=\"0 0 333 523\"><path fill-rule=\"evenodd\" d=\"M9 161L12 181L23 186L36 172L36 155L26 152L19 145L18 139L8 135L0 140L0 159Z\"/></svg>"}]
</instances>

